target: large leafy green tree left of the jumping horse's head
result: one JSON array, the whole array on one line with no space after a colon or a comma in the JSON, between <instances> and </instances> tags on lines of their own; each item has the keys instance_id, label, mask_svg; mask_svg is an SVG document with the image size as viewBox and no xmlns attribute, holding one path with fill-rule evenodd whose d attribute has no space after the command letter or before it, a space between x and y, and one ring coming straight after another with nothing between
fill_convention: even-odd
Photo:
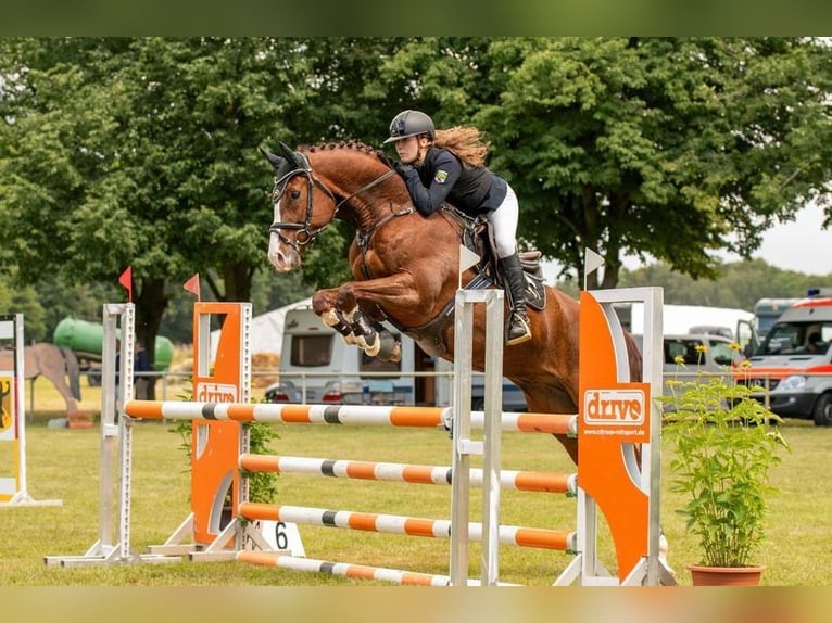
<instances>
[{"instance_id":1,"label":"large leafy green tree left of the jumping horse's head","mask_svg":"<svg viewBox=\"0 0 832 623\"><path fill-rule=\"evenodd\" d=\"M133 266L137 332L149 345L171 296L196 271L217 298L248 301L254 271L266 267L270 218L256 148L280 127L276 93L294 81L285 61L294 44L2 46L1 259L20 266L20 280L59 271L114 283Z\"/></svg>"}]
</instances>

